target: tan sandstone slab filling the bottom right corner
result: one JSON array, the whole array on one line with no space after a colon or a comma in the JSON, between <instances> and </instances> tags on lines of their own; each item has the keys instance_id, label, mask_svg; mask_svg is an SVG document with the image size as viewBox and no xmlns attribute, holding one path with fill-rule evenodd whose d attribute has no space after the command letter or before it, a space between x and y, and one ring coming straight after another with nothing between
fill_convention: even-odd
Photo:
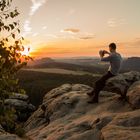
<instances>
[{"instance_id":1,"label":"tan sandstone slab filling the bottom right corner","mask_svg":"<svg viewBox=\"0 0 140 140\"><path fill-rule=\"evenodd\" d=\"M102 129L104 140L138 140L140 138L140 110L118 114Z\"/></svg>"}]
</instances>

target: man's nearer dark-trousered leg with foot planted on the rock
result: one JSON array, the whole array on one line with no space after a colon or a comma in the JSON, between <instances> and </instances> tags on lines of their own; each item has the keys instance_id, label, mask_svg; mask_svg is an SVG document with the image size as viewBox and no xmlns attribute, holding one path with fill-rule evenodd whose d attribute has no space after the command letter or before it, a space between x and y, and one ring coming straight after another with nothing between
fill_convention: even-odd
<instances>
[{"instance_id":1,"label":"man's nearer dark-trousered leg with foot planted on the rock","mask_svg":"<svg viewBox=\"0 0 140 140\"><path fill-rule=\"evenodd\" d=\"M99 80L95 82L94 91L93 91L94 93L92 99L88 101L88 103L98 103L100 91L104 88L105 82L113 76L114 75L108 71L105 75L103 75Z\"/></svg>"}]
</instances>

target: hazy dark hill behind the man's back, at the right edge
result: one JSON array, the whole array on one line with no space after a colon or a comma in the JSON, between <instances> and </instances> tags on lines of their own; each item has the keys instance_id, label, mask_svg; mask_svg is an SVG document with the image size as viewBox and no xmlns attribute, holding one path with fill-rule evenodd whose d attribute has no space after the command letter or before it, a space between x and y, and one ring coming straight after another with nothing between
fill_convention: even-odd
<instances>
[{"instance_id":1,"label":"hazy dark hill behind the man's back, at the right edge","mask_svg":"<svg viewBox=\"0 0 140 140\"><path fill-rule=\"evenodd\" d=\"M130 57L123 61L122 71L140 71L140 57Z\"/></svg>"}]
</instances>

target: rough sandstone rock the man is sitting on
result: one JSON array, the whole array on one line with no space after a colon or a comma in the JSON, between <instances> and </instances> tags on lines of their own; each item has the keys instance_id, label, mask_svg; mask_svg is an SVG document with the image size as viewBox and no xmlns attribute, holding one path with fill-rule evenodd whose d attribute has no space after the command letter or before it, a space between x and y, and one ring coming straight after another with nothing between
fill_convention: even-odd
<instances>
[{"instance_id":1,"label":"rough sandstone rock the man is sitting on","mask_svg":"<svg viewBox=\"0 0 140 140\"><path fill-rule=\"evenodd\" d=\"M104 90L124 96L126 95L129 86L138 80L140 80L140 73L136 71L119 74L107 81Z\"/></svg>"}]
</instances>

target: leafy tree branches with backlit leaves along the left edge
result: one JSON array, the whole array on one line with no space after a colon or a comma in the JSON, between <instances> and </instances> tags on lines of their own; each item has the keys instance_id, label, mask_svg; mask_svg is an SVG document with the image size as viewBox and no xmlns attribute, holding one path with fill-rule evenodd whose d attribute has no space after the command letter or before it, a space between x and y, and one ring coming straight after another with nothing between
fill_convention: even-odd
<instances>
[{"instance_id":1,"label":"leafy tree branches with backlit leaves along the left edge","mask_svg":"<svg viewBox=\"0 0 140 140\"><path fill-rule=\"evenodd\" d=\"M17 8L12 8L12 0L0 1L0 124L4 123L7 131L15 127L15 111L5 107L4 101L13 92L24 93L15 76L30 59L22 55L24 38L20 36L18 15Z\"/></svg>"}]
</instances>

